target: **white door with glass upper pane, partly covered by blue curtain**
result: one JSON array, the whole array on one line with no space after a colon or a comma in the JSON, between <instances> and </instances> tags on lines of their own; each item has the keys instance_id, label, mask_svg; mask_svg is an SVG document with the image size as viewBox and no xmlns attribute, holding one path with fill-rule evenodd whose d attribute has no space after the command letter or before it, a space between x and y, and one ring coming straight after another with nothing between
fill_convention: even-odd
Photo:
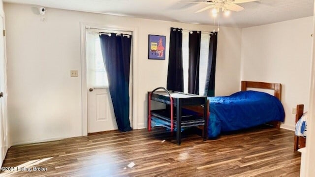
<instances>
[{"instance_id":1,"label":"white door with glass upper pane, partly covered by blue curtain","mask_svg":"<svg viewBox=\"0 0 315 177\"><path fill-rule=\"evenodd\" d=\"M116 130L97 29L87 29L88 133Z\"/></svg>"}]
</instances>

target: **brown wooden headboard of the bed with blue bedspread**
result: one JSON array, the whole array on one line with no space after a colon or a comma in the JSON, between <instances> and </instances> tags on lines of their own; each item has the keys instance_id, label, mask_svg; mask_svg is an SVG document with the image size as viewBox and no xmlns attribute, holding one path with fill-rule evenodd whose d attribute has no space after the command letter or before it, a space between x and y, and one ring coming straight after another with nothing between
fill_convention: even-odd
<instances>
[{"instance_id":1,"label":"brown wooden headboard of the bed with blue bedspread","mask_svg":"<svg viewBox=\"0 0 315 177\"><path fill-rule=\"evenodd\" d=\"M256 89L273 89L275 90L275 97L281 101L281 84L275 83L265 83L265 82L252 82L252 81L242 81L242 91L246 91L247 88Z\"/></svg>"}]
</instances>

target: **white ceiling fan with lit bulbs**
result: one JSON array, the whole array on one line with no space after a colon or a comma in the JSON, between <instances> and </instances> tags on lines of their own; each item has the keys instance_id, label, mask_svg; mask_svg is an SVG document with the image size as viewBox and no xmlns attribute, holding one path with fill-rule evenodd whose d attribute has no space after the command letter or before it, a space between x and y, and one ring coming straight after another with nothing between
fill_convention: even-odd
<instances>
[{"instance_id":1,"label":"white ceiling fan with lit bulbs","mask_svg":"<svg viewBox=\"0 0 315 177\"><path fill-rule=\"evenodd\" d=\"M199 2L179 2L179 3L204 3L207 7L197 10L195 13L203 12L207 9L214 8L216 11L227 12L228 10L239 12L244 10L244 7L237 5L238 3L252 2L257 0L203 0Z\"/></svg>"}]
</instances>

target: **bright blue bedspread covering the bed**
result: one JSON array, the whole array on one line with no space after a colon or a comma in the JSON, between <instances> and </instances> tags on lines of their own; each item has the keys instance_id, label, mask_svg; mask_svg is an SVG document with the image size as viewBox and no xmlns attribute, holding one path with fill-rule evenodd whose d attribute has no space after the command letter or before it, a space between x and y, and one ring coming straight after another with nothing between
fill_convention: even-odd
<instances>
[{"instance_id":1,"label":"bright blue bedspread covering the bed","mask_svg":"<svg viewBox=\"0 0 315 177\"><path fill-rule=\"evenodd\" d=\"M284 121L284 107L278 98L259 91L240 91L230 96L208 97L210 118L208 137L221 132L234 131Z\"/></svg>"}]
</instances>

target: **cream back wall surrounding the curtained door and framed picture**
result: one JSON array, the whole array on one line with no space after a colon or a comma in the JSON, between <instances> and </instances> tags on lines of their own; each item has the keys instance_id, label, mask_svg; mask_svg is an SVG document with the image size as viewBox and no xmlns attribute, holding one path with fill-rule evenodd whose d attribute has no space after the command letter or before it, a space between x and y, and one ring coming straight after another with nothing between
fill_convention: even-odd
<instances>
[{"instance_id":1,"label":"cream back wall surrounding the curtained door and framed picture","mask_svg":"<svg viewBox=\"0 0 315 177\"><path fill-rule=\"evenodd\" d=\"M138 29L138 127L146 127L146 93L166 87L171 27L211 26L48 9L40 21L31 5L4 4L7 29L8 109L13 144L82 135L80 22ZM148 34L166 36L166 59L148 59ZM221 28L216 94L240 88L241 29Z\"/></svg>"}]
</instances>

